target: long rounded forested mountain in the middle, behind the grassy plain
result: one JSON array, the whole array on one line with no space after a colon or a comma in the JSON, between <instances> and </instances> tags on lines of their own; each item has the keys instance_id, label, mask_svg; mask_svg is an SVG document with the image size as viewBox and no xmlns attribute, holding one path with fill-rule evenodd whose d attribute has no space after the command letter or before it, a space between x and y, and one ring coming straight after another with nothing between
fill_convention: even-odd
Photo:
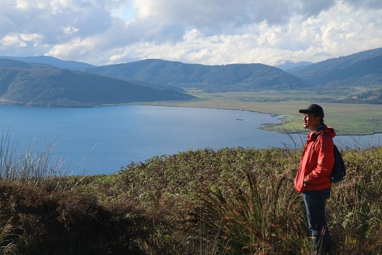
<instances>
[{"instance_id":1,"label":"long rounded forested mountain in the middle, behind the grassy plain","mask_svg":"<svg viewBox=\"0 0 382 255\"><path fill-rule=\"evenodd\" d=\"M87 69L118 79L133 79L151 84L194 87L207 91L253 91L304 87L301 79L276 67L263 64L201 65L161 59L146 59L125 64Z\"/></svg>"}]
</instances>

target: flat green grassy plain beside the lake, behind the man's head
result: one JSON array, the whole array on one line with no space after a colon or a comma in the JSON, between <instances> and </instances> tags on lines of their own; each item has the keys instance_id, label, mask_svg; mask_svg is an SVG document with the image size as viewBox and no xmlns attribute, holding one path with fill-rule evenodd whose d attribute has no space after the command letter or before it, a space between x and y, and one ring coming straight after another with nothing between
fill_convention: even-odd
<instances>
[{"instance_id":1,"label":"flat green grassy plain beside the lake, behind the man's head","mask_svg":"<svg viewBox=\"0 0 382 255\"><path fill-rule=\"evenodd\" d=\"M264 123L260 128L277 132L296 132L302 129L302 115L298 113L298 109L316 103L324 109L325 123L333 126L338 135L382 133L382 105L325 103L328 99L341 98L344 94L318 94L314 91L188 92L198 99L142 105L245 110L286 115L282 123Z\"/></svg>"}]
</instances>

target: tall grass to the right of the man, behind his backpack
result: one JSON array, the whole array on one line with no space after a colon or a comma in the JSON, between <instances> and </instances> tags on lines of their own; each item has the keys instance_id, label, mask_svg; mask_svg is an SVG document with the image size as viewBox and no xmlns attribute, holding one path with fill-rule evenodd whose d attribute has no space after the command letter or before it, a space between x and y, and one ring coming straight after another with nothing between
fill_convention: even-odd
<instances>
[{"instance_id":1,"label":"tall grass to the right of the man, behind his backpack","mask_svg":"<svg viewBox=\"0 0 382 255\"><path fill-rule=\"evenodd\" d=\"M346 179L333 186L328 216L346 253L382 252L382 147L347 150Z\"/></svg>"}]
</instances>

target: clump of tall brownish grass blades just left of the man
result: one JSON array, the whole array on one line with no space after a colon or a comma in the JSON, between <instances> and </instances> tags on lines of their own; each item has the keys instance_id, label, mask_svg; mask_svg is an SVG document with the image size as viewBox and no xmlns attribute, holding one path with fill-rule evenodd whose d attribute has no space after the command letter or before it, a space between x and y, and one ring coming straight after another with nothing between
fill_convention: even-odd
<instances>
[{"instance_id":1,"label":"clump of tall brownish grass blades just left of the man","mask_svg":"<svg viewBox=\"0 0 382 255\"><path fill-rule=\"evenodd\" d=\"M301 197L291 185L294 171L284 168L287 162L257 164L253 158L245 158L245 150L237 152L241 160L232 169L242 182L224 180L224 187L201 192L210 225L215 228L222 219L222 236L230 240L228 248L233 253L306 252ZM276 151L269 152L272 157Z\"/></svg>"}]
</instances>

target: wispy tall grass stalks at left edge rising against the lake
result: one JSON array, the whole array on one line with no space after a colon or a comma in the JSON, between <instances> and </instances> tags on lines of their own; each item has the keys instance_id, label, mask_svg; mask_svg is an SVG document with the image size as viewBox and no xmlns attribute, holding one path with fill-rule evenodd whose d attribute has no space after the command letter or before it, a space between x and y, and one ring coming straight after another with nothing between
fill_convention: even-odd
<instances>
[{"instance_id":1,"label":"wispy tall grass stalks at left edge rising against the lake","mask_svg":"<svg viewBox=\"0 0 382 255\"><path fill-rule=\"evenodd\" d=\"M11 143L10 135L4 132L0 139L0 184L2 188L7 185L13 187L41 187L52 185L60 189L67 185L65 179L60 176L67 173L62 159L56 161L51 159L54 143L48 145L41 151L36 152L34 143L29 147L19 150L15 143ZM4 189L2 189L4 190ZM7 195L7 194L4 194ZM12 216L12 198L0 200L0 254L16 254L15 226Z\"/></svg>"}]
</instances>

